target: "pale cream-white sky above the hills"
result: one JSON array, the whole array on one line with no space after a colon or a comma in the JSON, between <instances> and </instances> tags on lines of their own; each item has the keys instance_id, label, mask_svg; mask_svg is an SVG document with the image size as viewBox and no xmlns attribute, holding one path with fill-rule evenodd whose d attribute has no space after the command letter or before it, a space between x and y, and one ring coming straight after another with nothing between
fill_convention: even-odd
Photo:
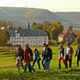
<instances>
[{"instance_id":1,"label":"pale cream-white sky above the hills","mask_svg":"<svg viewBox=\"0 0 80 80\"><path fill-rule=\"evenodd\" d=\"M80 0L0 0L1 7L28 7L56 11L80 11Z\"/></svg>"}]
</instances>

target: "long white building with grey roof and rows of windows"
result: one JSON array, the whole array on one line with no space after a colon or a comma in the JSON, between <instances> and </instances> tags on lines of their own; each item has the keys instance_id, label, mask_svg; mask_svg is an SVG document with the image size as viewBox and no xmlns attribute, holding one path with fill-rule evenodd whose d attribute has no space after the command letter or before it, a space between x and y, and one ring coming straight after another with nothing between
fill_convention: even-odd
<instances>
[{"instance_id":1,"label":"long white building with grey roof and rows of windows","mask_svg":"<svg viewBox=\"0 0 80 80\"><path fill-rule=\"evenodd\" d=\"M29 44L30 46L40 46L44 43L48 43L48 35L43 30L38 29L9 29L8 30L10 39L9 44L18 45L21 44L25 46Z\"/></svg>"}]
</instances>

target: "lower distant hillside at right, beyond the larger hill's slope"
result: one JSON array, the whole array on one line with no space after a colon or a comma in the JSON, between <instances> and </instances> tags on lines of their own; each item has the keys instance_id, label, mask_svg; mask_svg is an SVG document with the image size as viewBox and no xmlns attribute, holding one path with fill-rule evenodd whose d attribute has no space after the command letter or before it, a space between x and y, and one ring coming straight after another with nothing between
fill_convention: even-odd
<instances>
[{"instance_id":1,"label":"lower distant hillside at right, beyond the larger hill's slope","mask_svg":"<svg viewBox=\"0 0 80 80\"><path fill-rule=\"evenodd\" d=\"M80 12L56 12L55 14L70 23L80 24Z\"/></svg>"}]
</instances>

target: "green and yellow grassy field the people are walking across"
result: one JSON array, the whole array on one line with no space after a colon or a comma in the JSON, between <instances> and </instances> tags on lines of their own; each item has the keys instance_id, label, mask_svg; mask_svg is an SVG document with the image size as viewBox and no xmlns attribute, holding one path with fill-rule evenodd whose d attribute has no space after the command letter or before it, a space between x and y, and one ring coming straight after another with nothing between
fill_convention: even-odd
<instances>
[{"instance_id":1,"label":"green and yellow grassy field the people are walking across","mask_svg":"<svg viewBox=\"0 0 80 80\"><path fill-rule=\"evenodd\" d=\"M27 71L23 73L21 68L20 72L16 70L15 66L15 48L0 48L0 80L80 80L80 67L76 67L75 49L77 46L73 46L74 54L72 61L72 68L65 69L62 63L62 69L58 68L58 47L51 46L53 50L53 59L50 65L50 71L46 72L38 69L37 64L35 65L36 71L30 73ZM37 47L40 52L42 47ZM34 48L33 48L34 49Z\"/></svg>"}]
</instances>

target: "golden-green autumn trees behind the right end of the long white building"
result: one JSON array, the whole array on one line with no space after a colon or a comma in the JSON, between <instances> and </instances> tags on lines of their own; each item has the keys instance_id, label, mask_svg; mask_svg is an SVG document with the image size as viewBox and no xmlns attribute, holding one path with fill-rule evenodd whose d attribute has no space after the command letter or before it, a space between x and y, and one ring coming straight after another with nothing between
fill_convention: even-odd
<instances>
[{"instance_id":1,"label":"golden-green autumn trees behind the right end of the long white building","mask_svg":"<svg viewBox=\"0 0 80 80\"><path fill-rule=\"evenodd\" d=\"M47 32L50 39L57 40L57 36L59 33L63 31L63 26L59 21L55 21L50 23L48 21L44 21L43 23L33 23L33 29L41 29Z\"/></svg>"}]
</instances>

